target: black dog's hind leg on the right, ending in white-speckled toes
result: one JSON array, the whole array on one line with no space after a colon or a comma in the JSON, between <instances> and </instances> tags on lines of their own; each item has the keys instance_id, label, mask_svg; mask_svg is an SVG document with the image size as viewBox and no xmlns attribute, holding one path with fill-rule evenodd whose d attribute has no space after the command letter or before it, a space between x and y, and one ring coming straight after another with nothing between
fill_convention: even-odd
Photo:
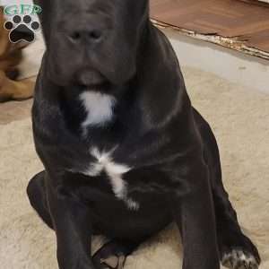
<instances>
[{"instance_id":1,"label":"black dog's hind leg on the right, ending in white-speckled toes","mask_svg":"<svg viewBox=\"0 0 269 269\"><path fill-rule=\"evenodd\" d=\"M251 240L243 234L223 186L220 154L213 132L197 112L195 120L204 141L204 158L210 172L221 263L232 269L256 269L261 262L260 256Z\"/></svg>"}]
</instances>

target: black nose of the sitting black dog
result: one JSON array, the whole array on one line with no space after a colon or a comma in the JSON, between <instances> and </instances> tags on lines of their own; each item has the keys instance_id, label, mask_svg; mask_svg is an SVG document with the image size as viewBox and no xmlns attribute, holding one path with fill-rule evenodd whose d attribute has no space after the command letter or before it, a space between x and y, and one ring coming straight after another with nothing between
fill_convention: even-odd
<instances>
[{"instance_id":1,"label":"black nose of the sitting black dog","mask_svg":"<svg viewBox=\"0 0 269 269\"><path fill-rule=\"evenodd\" d=\"M74 43L79 43L83 40L86 42L97 43L103 37L103 31L98 28L87 28L84 30L74 30L68 36Z\"/></svg>"}]
</instances>

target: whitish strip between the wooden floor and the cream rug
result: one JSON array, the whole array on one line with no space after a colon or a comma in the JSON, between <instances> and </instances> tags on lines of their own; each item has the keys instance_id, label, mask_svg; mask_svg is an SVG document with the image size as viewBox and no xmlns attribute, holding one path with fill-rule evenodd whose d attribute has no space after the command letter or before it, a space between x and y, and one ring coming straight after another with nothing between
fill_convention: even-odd
<instances>
[{"instance_id":1,"label":"whitish strip between the wooden floor and the cream rug","mask_svg":"<svg viewBox=\"0 0 269 269\"><path fill-rule=\"evenodd\" d=\"M180 65L199 68L230 82L269 93L269 60L192 39L174 30L163 31L169 37Z\"/></svg>"}]
</instances>

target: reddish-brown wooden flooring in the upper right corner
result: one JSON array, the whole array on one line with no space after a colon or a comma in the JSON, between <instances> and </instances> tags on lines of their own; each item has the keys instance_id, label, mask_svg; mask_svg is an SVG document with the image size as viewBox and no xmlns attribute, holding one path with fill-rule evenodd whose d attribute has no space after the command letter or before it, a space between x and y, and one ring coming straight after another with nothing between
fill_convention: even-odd
<instances>
[{"instance_id":1,"label":"reddish-brown wooden flooring in the upper right corner","mask_svg":"<svg viewBox=\"0 0 269 269\"><path fill-rule=\"evenodd\" d=\"M269 53L269 4L239 0L151 0L152 19L204 35L237 39Z\"/></svg>"}]
</instances>

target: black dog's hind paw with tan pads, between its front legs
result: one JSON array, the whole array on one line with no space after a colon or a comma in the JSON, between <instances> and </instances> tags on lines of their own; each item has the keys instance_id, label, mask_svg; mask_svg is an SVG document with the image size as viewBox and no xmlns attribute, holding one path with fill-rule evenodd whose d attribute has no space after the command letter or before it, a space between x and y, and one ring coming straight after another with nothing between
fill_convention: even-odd
<instances>
[{"instance_id":1,"label":"black dog's hind paw with tan pads, between its front legs","mask_svg":"<svg viewBox=\"0 0 269 269\"><path fill-rule=\"evenodd\" d=\"M113 239L92 256L92 261L98 269L123 269L126 256L134 252L141 243L142 241Z\"/></svg>"}]
</instances>

